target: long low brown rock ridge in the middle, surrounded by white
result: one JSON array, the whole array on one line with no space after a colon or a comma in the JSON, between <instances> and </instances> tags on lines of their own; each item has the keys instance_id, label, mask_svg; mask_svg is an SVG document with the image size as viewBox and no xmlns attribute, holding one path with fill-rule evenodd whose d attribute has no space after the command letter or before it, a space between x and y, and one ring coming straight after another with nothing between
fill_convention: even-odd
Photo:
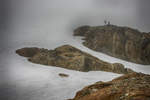
<instances>
[{"instance_id":1,"label":"long low brown rock ridge in the middle, surrounded by white","mask_svg":"<svg viewBox=\"0 0 150 100\"><path fill-rule=\"evenodd\" d=\"M31 48L31 50L30 48L23 48L17 50L17 53L21 56L29 57L28 60L33 63L57 66L78 71L86 72L100 70L119 74L127 74L133 72L131 69L124 68L122 64L110 64L104 62L70 45L64 45L54 50L38 48L38 52L36 50L33 50L33 56L22 54L22 52L27 53L28 51L32 50L33 48Z\"/></svg>"}]
</instances>

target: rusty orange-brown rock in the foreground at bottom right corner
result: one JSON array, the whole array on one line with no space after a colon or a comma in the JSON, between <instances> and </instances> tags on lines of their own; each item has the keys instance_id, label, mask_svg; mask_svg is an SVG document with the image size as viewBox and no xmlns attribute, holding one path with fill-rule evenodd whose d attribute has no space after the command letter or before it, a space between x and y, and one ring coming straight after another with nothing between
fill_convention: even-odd
<instances>
[{"instance_id":1,"label":"rusty orange-brown rock in the foreground at bottom right corner","mask_svg":"<svg viewBox=\"0 0 150 100\"><path fill-rule=\"evenodd\" d=\"M150 100L150 75L130 73L110 82L97 82L69 100Z\"/></svg>"}]
</instances>

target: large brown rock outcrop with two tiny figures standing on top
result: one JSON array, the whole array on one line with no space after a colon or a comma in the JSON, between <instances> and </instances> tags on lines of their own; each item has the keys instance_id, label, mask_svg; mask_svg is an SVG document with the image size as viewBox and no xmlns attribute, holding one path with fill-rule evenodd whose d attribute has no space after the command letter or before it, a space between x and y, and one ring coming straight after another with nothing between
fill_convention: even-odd
<instances>
[{"instance_id":1,"label":"large brown rock outcrop with two tiny figures standing on top","mask_svg":"<svg viewBox=\"0 0 150 100\"><path fill-rule=\"evenodd\" d=\"M83 44L90 49L140 64L150 64L150 33L114 25L82 26L74 31L84 36Z\"/></svg>"}]
</instances>

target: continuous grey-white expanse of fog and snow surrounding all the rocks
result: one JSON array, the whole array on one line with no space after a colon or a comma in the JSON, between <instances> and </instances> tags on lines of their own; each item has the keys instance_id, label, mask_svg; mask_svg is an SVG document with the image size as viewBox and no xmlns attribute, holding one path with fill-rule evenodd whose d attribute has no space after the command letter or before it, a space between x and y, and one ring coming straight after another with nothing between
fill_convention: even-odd
<instances>
[{"instance_id":1,"label":"continuous grey-white expanse of fog and snow surrounding all the rocks","mask_svg":"<svg viewBox=\"0 0 150 100\"><path fill-rule=\"evenodd\" d=\"M72 36L75 28L103 25L104 20L149 32L149 0L1 0L0 4L2 100L64 100L88 84L120 76L32 64L15 54L15 50L22 47L53 49L71 44L104 61L150 73L149 65L133 64L92 51L82 45L80 37ZM70 77L61 79L57 76L59 72Z\"/></svg>"}]
</instances>

